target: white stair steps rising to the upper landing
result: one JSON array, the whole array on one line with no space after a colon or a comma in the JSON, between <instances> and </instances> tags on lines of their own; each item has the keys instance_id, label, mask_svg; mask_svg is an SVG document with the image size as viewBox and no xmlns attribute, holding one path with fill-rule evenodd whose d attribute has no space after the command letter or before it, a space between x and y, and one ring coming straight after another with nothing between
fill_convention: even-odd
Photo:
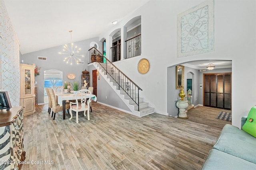
<instances>
[{"instance_id":1,"label":"white stair steps rising to the upper landing","mask_svg":"<svg viewBox=\"0 0 256 170\"><path fill-rule=\"evenodd\" d=\"M113 74L115 74L114 76L110 76L110 74L108 74L106 70L102 67L101 64L103 63L99 64L97 62L94 62L92 64L101 74L102 78L104 78L106 82L108 82L108 84L113 88L116 94L118 94L118 96L126 104L126 106L128 106L130 112L127 113L136 115L138 117L154 113L155 108L150 107L149 102L144 101L144 98L141 95L139 96L138 92L136 92L136 88L134 89L132 86L129 86L129 83L126 82L123 77L119 77L120 83L118 84L114 80L114 78L112 78L115 77L116 79L116 77L118 76L115 72L113 72ZM126 89L126 91L123 89ZM130 96L132 96L132 98Z\"/></svg>"}]
</instances>

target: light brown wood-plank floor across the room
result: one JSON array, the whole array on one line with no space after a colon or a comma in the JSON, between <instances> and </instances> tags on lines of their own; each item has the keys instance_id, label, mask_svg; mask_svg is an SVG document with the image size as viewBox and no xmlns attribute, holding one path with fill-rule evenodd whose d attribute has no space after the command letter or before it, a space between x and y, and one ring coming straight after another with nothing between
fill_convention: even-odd
<instances>
[{"instance_id":1,"label":"light brown wood-plank floor across the room","mask_svg":"<svg viewBox=\"0 0 256 170\"><path fill-rule=\"evenodd\" d=\"M136 117L96 102L90 121L83 113L53 120L48 105L24 117L22 170L199 170L222 127L211 107L188 110L188 119L153 113ZM230 111L231 112L231 111ZM32 164L39 161L43 164ZM53 161L53 164L44 164Z\"/></svg>"}]
</instances>

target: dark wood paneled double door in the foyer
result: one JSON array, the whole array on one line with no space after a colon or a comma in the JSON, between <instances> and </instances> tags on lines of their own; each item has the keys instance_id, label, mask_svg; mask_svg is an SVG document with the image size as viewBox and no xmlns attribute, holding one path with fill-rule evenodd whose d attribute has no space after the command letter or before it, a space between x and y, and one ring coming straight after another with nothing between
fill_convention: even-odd
<instances>
[{"instance_id":1,"label":"dark wood paneled double door in the foyer","mask_svg":"<svg viewBox=\"0 0 256 170\"><path fill-rule=\"evenodd\" d=\"M231 73L204 74L204 106L231 110Z\"/></svg>"}]
</instances>

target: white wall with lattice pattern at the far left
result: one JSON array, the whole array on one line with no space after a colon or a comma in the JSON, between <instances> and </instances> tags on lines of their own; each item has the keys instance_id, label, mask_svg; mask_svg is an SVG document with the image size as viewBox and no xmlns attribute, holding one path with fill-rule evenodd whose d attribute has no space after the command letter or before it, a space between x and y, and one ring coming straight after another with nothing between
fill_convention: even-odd
<instances>
[{"instance_id":1,"label":"white wall with lattice pattern at the far left","mask_svg":"<svg viewBox=\"0 0 256 170\"><path fill-rule=\"evenodd\" d=\"M0 0L0 90L8 91L12 106L20 104L19 45L4 1Z\"/></svg>"}]
</instances>

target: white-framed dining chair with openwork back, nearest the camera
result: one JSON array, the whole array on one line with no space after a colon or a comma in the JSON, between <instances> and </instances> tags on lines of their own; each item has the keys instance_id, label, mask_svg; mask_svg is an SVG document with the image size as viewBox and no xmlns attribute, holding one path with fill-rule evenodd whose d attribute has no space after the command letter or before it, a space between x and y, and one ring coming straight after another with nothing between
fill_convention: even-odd
<instances>
[{"instance_id":1,"label":"white-framed dining chair with openwork back, nearest the camera","mask_svg":"<svg viewBox=\"0 0 256 170\"><path fill-rule=\"evenodd\" d=\"M89 98L87 98L87 104L86 104L86 96L87 95L90 95ZM82 89L82 90L79 90L77 93L76 93L76 102L70 102L70 120L72 119L72 111L75 111L76 112L76 123L78 123L78 112L79 111L84 111L84 116L86 116L86 111L87 111L87 119L90 120L90 111L89 111L89 105L90 105L90 102L91 102L91 92L90 90L87 90L87 89Z\"/></svg>"}]
</instances>

